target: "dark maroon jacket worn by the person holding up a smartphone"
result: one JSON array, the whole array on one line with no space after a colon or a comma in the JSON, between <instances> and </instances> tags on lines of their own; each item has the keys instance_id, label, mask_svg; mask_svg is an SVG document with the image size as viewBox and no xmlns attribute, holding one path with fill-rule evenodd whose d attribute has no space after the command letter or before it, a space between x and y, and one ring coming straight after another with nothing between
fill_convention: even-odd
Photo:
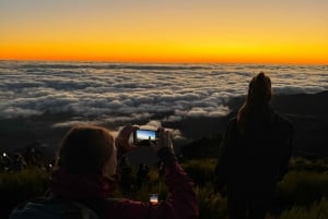
<instances>
[{"instance_id":1,"label":"dark maroon jacket worn by the person holding up a smartphone","mask_svg":"<svg viewBox=\"0 0 328 219\"><path fill-rule=\"evenodd\" d=\"M169 197L157 204L130 199L107 202L115 190L114 183L101 175L70 175L54 172L51 193L63 199L78 200L94 209L102 219L191 219L198 216L198 205L192 182L180 168L172 153L162 149L165 183Z\"/></svg>"}]
</instances>

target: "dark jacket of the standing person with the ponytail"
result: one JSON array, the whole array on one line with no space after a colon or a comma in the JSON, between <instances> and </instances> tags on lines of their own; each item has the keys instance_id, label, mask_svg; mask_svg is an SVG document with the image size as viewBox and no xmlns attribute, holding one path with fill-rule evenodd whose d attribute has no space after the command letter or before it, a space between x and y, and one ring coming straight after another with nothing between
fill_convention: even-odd
<instances>
[{"instance_id":1,"label":"dark jacket of the standing person with the ponytail","mask_svg":"<svg viewBox=\"0 0 328 219\"><path fill-rule=\"evenodd\" d=\"M272 193L288 170L293 149L292 124L273 109L253 111L241 132L236 118L226 129L215 168L215 187L227 192Z\"/></svg>"}]
</instances>

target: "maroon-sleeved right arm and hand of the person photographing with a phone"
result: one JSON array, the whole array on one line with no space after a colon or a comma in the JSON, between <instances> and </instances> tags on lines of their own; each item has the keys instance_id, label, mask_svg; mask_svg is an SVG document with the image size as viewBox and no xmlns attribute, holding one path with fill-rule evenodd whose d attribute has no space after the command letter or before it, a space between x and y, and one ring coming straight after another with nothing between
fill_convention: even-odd
<instances>
[{"instance_id":1,"label":"maroon-sleeved right arm and hand of the person photographing with a phone","mask_svg":"<svg viewBox=\"0 0 328 219\"><path fill-rule=\"evenodd\" d=\"M165 184L169 195L157 204L124 200L117 205L122 219L194 219L198 217L198 203L194 183L177 162L168 132L160 131L157 145L153 146L164 162Z\"/></svg>"}]
</instances>

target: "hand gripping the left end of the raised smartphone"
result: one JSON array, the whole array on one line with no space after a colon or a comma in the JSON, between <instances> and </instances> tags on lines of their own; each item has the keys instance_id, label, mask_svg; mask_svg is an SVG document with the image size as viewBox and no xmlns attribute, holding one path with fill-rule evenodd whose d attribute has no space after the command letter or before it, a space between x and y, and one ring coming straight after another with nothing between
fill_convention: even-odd
<instances>
[{"instance_id":1,"label":"hand gripping the left end of the raised smartphone","mask_svg":"<svg viewBox=\"0 0 328 219\"><path fill-rule=\"evenodd\" d=\"M132 126L130 124L127 124L124 126L124 129L118 133L115 144L118 149L118 151L122 155L125 153L128 153L130 150L137 149L138 147L133 144L129 143L130 135L138 130L138 126Z\"/></svg>"}]
</instances>

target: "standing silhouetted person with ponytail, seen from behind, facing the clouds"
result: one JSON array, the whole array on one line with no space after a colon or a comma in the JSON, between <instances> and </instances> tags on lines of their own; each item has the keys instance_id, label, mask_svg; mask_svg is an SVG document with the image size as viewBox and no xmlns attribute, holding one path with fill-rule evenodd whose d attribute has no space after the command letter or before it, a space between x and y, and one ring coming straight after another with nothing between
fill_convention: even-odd
<instances>
[{"instance_id":1,"label":"standing silhouetted person with ponytail, seen from behind, facing the clouds","mask_svg":"<svg viewBox=\"0 0 328 219\"><path fill-rule=\"evenodd\" d=\"M245 104L226 129L214 186L226 186L231 219L263 219L292 154L292 124L270 105L271 81L259 73L249 83Z\"/></svg>"}]
</instances>

